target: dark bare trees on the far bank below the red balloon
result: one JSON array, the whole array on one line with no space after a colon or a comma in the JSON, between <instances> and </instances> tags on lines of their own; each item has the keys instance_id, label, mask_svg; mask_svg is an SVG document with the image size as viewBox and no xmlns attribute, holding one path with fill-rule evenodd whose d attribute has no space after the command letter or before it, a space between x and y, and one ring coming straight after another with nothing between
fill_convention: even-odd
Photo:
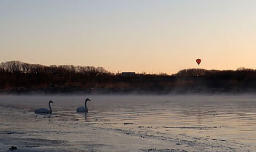
<instances>
[{"instance_id":1,"label":"dark bare trees on the far bank below the red balloon","mask_svg":"<svg viewBox=\"0 0 256 152\"><path fill-rule=\"evenodd\" d=\"M220 91L256 91L256 70L185 69L175 74L186 80L186 88L217 89Z\"/></svg>"}]
</instances>

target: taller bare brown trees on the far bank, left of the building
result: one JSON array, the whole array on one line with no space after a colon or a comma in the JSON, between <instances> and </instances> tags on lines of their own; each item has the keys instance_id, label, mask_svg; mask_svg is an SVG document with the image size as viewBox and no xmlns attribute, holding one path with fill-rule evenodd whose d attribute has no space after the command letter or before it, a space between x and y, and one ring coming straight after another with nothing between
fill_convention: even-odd
<instances>
[{"instance_id":1,"label":"taller bare brown trees on the far bank, left of the building","mask_svg":"<svg viewBox=\"0 0 256 152\"><path fill-rule=\"evenodd\" d=\"M101 80L110 72L103 67L29 64L8 61L0 64L0 88L38 88L50 85L83 85Z\"/></svg>"}]
</instances>

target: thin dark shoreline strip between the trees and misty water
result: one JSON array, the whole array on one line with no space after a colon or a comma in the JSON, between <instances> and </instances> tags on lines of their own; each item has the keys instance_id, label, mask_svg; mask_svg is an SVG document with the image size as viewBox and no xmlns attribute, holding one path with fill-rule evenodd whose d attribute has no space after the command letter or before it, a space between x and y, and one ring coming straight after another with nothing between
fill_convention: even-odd
<instances>
[{"instance_id":1,"label":"thin dark shoreline strip between the trees and misty water","mask_svg":"<svg viewBox=\"0 0 256 152\"><path fill-rule=\"evenodd\" d=\"M98 88L33 88L33 89L0 89L0 95L83 95L83 94L138 94L138 95L189 95L189 94L255 94L256 89L126 89L126 88L110 88L110 89L98 89Z\"/></svg>"}]
</instances>

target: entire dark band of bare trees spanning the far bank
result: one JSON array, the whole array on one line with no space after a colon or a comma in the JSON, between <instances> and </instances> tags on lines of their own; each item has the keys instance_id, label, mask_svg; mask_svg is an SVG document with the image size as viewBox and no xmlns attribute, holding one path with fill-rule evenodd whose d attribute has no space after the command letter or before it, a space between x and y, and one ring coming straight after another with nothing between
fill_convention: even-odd
<instances>
[{"instance_id":1,"label":"entire dark band of bare trees spanning the far bank","mask_svg":"<svg viewBox=\"0 0 256 152\"><path fill-rule=\"evenodd\" d=\"M256 70L184 69L173 75L136 74L125 77L103 67L28 64L8 61L0 64L0 89L44 89L74 91L79 89L110 90L255 90Z\"/></svg>"}]
</instances>

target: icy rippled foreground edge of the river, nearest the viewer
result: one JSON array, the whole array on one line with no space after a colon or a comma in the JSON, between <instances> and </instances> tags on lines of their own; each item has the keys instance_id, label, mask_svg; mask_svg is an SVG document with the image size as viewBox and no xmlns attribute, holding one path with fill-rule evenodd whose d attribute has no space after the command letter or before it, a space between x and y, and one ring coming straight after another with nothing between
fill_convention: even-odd
<instances>
[{"instance_id":1,"label":"icy rippled foreground edge of the river, nearest the viewer","mask_svg":"<svg viewBox=\"0 0 256 152\"><path fill-rule=\"evenodd\" d=\"M69 129L70 130L70 129ZM255 147L224 140L179 136L166 138L164 135L151 136L127 130L83 128L82 141L35 138L36 134L48 136L56 134L63 139L65 136L79 134L76 129L62 131L1 131L1 151L9 151L11 146L15 151L253 151ZM29 134L29 137L28 137ZM63 137L61 137L63 136ZM87 136L87 137L86 137Z\"/></svg>"}]
</instances>

